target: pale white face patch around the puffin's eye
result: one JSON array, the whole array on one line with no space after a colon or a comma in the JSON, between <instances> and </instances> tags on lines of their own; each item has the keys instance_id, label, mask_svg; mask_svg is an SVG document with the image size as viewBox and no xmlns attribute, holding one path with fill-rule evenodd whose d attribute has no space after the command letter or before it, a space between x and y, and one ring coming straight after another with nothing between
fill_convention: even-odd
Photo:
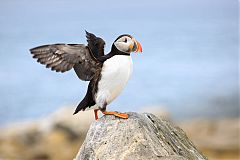
<instances>
[{"instance_id":1,"label":"pale white face patch around the puffin's eye","mask_svg":"<svg viewBox=\"0 0 240 160\"><path fill-rule=\"evenodd\" d=\"M130 46L134 45L134 41L128 36L123 36L119 38L116 42L114 42L114 45L117 47L119 51L130 53L131 52Z\"/></svg>"}]
</instances>

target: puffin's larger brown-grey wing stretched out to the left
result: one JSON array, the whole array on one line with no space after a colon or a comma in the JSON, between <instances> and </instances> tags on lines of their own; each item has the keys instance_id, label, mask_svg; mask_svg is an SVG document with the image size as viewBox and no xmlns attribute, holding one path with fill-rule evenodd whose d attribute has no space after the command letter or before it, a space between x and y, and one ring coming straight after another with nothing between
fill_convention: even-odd
<instances>
[{"instance_id":1,"label":"puffin's larger brown-grey wing stretched out to the left","mask_svg":"<svg viewBox=\"0 0 240 160\"><path fill-rule=\"evenodd\" d=\"M93 78L101 63L83 44L52 44L30 49L33 58L47 68L57 72L66 72L74 68L81 80Z\"/></svg>"}]
</instances>

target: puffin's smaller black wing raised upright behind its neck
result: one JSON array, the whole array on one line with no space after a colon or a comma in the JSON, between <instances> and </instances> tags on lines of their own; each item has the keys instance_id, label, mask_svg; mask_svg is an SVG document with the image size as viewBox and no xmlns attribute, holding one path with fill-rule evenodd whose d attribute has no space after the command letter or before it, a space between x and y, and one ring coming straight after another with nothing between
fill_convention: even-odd
<instances>
[{"instance_id":1,"label":"puffin's smaller black wing raised upright behind its neck","mask_svg":"<svg viewBox=\"0 0 240 160\"><path fill-rule=\"evenodd\" d=\"M104 56L105 41L102 38L96 37L93 33L89 33L87 31L86 38L88 47L91 49L94 57L99 58L101 56Z\"/></svg>"}]
</instances>

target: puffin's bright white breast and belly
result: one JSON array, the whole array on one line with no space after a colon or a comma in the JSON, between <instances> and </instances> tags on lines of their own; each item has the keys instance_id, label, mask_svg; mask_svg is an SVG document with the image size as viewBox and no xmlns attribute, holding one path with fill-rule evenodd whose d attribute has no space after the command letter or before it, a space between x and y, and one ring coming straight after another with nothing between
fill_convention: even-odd
<instances>
[{"instance_id":1,"label":"puffin's bright white breast and belly","mask_svg":"<svg viewBox=\"0 0 240 160\"><path fill-rule=\"evenodd\" d=\"M115 55L104 62L101 73L95 95L100 107L104 102L111 103L121 93L132 74L132 59L130 56Z\"/></svg>"}]
</instances>

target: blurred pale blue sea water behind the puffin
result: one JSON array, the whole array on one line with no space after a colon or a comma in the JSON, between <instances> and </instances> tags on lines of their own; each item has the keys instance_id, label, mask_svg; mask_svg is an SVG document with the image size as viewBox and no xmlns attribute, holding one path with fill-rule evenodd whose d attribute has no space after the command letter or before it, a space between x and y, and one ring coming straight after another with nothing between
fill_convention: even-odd
<instances>
[{"instance_id":1,"label":"blurred pale blue sea water behind the puffin","mask_svg":"<svg viewBox=\"0 0 240 160\"><path fill-rule=\"evenodd\" d=\"M84 30L106 41L120 34L143 47L134 72L109 107L163 106L176 119L238 116L238 4L234 0L0 2L0 125L76 106L87 82L73 71L46 69L29 49L86 43Z\"/></svg>"}]
</instances>

